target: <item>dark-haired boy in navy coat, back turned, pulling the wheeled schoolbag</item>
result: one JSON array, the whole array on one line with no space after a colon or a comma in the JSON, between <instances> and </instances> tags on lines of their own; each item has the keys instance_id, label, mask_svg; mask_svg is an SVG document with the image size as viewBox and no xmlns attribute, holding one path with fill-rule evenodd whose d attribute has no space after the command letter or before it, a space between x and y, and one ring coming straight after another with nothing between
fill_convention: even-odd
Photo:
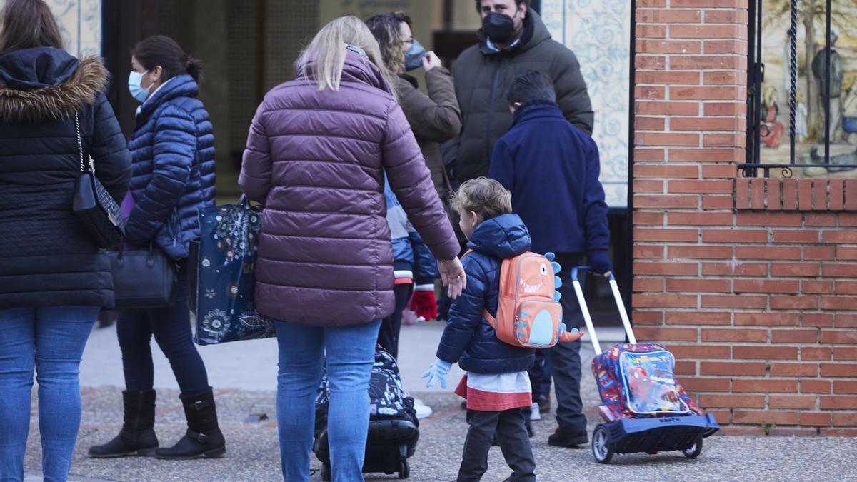
<instances>
[{"instance_id":1,"label":"dark-haired boy in navy coat, back turned, pulling the wheeled schoolbag","mask_svg":"<svg viewBox=\"0 0 857 482\"><path fill-rule=\"evenodd\" d=\"M569 328L580 328L583 316L568 279L571 268L588 258L596 274L613 270L598 146L562 116L548 75L536 70L518 75L506 99L514 113L512 127L497 142L488 175L512 191L512 208L530 229L532 250L554 252L566 267L560 273L563 318ZM588 437L581 413L580 341L540 352L547 352L546 365L556 383L559 428L548 443L583 445ZM534 399L545 401L549 378L548 389L542 387L541 393L535 393L540 391L536 382Z\"/></svg>"}]
</instances>

